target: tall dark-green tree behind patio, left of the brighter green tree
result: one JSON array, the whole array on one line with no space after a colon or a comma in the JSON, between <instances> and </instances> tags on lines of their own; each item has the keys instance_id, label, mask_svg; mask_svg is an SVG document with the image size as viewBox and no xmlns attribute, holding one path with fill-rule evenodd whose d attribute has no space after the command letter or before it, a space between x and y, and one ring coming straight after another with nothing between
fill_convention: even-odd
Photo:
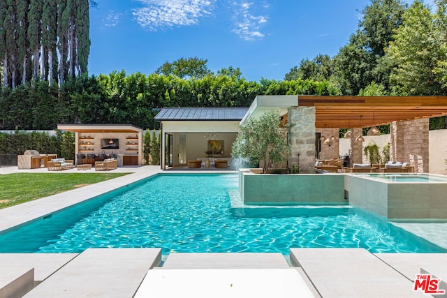
<instances>
[{"instance_id":1,"label":"tall dark-green tree behind patio, left of the brighter green tree","mask_svg":"<svg viewBox=\"0 0 447 298\"><path fill-rule=\"evenodd\" d=\"M372 0L362 10L362 20L348 45L334 57L335 80L344 94L356 95L370 82L390 88L389 76L395 64L386 59L385 49L402 24L406 5L400 0Z\"/></svg>"}]
</instances>

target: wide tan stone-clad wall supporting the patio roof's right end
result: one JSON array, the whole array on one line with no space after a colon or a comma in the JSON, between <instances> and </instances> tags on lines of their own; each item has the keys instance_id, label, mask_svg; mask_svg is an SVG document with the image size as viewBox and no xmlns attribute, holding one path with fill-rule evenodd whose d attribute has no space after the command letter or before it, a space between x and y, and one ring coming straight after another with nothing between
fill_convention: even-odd
<instances>
[{"instance_id":1,"label":"wide tan stone-clad wall supporting the patio roof's right end","mask_svg":"<svg viewBox=\"0 0 447 298\"><path fill-rule=\"evenodd\" d=\"M430 119L394 121L390 124L390 160L410 163L415 172L429 172Z\"/></svg>"}]
</instances>

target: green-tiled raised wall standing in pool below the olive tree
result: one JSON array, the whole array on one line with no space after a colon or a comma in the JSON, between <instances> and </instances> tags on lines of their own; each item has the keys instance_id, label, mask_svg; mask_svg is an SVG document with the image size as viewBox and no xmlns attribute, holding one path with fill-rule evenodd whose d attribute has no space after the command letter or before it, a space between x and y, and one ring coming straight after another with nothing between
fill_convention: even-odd
<instances>
[{"instance_id":1,"label":"green-tiled raised wall standing in pool below the olive tree","mask_svg":"<svg viewBox=\"0 0 447 298\"><path fill-rule=\"evenodd\" d=\"M244 204L346 204L344 175L254 174L239 171Z\"/></svg>"}]
</instances>

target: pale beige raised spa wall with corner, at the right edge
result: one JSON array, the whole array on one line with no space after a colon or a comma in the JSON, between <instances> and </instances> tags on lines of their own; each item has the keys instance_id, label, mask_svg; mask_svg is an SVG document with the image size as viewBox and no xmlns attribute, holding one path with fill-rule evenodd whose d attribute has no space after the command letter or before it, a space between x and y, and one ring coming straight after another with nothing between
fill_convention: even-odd
<instances>
[{"instance_id":1,"label":"pale beige raised spa wall with corner, at the right edge","mask_svg":"<svg viewBox=\"0 0 447 298\"><path fill-rule=\"evenodd\" d=\"M345 175L349 204L390 220L447 218L447 184L386 183Z\"/></svg>"}]
</instances>

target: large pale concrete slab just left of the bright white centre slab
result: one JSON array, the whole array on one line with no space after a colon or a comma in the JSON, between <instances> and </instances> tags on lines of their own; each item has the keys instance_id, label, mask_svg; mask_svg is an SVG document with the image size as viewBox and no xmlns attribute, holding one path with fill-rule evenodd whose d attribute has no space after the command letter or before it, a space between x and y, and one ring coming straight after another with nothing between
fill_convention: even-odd
<instances>
[{"instance_id":1,"label":"large pale concrete slab just left of the bright white centre slab","mask_svg":"<svg viewBox=\"0 0 447 298\"><path fill-rule=\"evenodd\" d=\"M26 297L133 297L159 248L89 248Z\"/></svg>"}]
</instances>

